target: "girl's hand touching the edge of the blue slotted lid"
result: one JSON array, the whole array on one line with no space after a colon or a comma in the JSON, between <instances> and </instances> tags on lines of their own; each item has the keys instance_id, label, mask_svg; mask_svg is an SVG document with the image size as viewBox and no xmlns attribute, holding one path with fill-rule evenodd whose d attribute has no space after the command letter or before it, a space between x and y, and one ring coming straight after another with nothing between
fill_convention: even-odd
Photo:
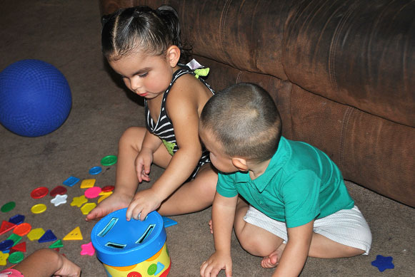
<instances>
[{"instance_id":1,"label":"girl's hand touching the edge of the blue slotted lid","mask_svg":"<svg viewBox=\"0 0 415 277\"><path fill-rule=\"evenodd\" d=\"M163 200L152 188L137 192L126 211L127 221L130 221L131 217L143 221L147 214L160 207Z\"/></svg>"}]
</instances>

